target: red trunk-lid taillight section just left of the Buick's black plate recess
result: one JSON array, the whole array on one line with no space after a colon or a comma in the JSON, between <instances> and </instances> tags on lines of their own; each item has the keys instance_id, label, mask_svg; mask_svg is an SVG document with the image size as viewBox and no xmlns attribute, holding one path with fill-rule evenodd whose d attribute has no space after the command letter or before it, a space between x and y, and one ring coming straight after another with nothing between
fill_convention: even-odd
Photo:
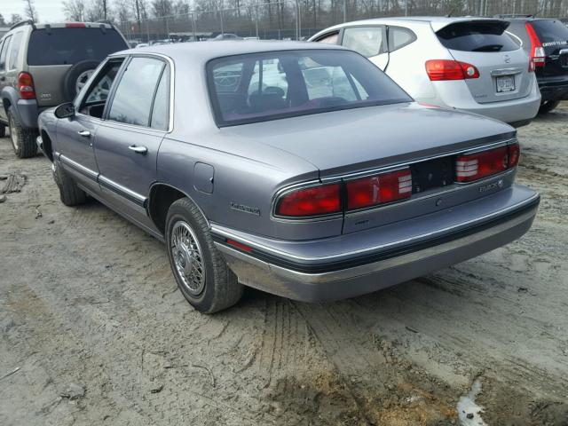
<instances>
[{"instance_id":1,"label":"red trunk-lid taillight section just left of the Buick's black plate recess","mask_svg":"<svg viewBox=\"0 0 568 426\"><path fill-rule=\"evenodd\" d=\"M399 201L412 195L410 169L396 170L347 182L347 209Z\"/></svg>"}]
</instances>

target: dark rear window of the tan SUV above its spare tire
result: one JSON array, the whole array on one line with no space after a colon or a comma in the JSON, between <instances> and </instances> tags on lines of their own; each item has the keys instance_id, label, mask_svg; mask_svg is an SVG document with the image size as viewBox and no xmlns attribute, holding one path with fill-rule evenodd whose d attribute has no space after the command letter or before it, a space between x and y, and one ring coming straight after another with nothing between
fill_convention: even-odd
<instances>
[{"instance_id":1,"label":"dark rear window of the tan SUV above its spare tire","mask_svg":"<svg viewBox=\"0 0 568 426\"><path fill-rule=\"evenodd\" d=\"M114 51L128 49L120 34L105 28L36 29L28 46L28 65L74 65L82 60L100 62Z\"/></svg>"}]
</instances>

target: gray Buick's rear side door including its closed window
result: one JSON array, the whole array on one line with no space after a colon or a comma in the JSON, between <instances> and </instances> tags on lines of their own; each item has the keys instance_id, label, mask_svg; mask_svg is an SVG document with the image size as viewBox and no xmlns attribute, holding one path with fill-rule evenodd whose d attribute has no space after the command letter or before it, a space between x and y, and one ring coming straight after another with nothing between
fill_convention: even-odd
<instances>
[{"instance_id":1,"label":"gray Buick's rear side door including its closed window","mask_svg":"<svg viewBox=\"0 0 568 426\"><path fill-rule=\"evenodd\" d=\"M126 64L97 130L95 154L106 200L153 231L146 201L157 177L158 149L168 130L170 67L163 59L135 56Z\"/></svg>"}]
</instances>

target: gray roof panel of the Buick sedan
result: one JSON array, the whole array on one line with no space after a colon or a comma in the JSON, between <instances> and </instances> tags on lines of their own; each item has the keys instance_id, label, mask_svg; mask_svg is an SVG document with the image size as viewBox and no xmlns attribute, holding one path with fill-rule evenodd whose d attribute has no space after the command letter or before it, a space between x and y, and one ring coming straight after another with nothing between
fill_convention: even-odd
<instances>
[{"instance_id":1,"label":"gray roof panel of the Buick sedan","mask_svg":"<svg viewBox=\"0 0 568 426\"><path fill-rule=\"evenodd\" d=\"M117 51L110 56L122 56L132 53L136 53L137 55L154 53L168 56L171 59L191 59L208 62L210 59L262 51L303 51L321 49L346 50L336 44L263 40L223 40L215 43L193 42L162 44L142 47L135 50Z\"/></svg>"}]
</instances>

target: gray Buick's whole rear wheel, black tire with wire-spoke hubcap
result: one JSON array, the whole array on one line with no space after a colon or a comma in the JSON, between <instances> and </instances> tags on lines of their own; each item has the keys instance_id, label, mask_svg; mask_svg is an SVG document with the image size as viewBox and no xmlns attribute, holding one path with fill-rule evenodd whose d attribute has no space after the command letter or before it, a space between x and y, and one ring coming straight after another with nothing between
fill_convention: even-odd
<instances>
[{"instance_id":1,"label":"gray Buick's whole rear wheel, black tire with wire-spoke hubcap","mask_svg":"<svg viewBox=\"0 0 568 426\"><path fill-rule=\"evenodd\" d=\"M166 218L166 244L177 286L196 310L222 311L239 302L243 287L215 248L209 225L193 201L175 201Z\"/></svg>"}]
</instances>

